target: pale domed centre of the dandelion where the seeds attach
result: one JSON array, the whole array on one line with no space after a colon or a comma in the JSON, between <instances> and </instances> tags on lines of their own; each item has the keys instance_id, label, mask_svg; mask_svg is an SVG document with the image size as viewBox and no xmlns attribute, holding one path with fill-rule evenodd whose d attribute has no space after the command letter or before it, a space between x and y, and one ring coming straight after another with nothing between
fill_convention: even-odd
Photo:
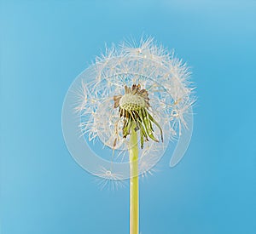
<instances>
[{"instance_id":1,"label":"pale domed centre of the dandelion where the seeds attach","mask_svg":"<svg viewBox=\"0 0 256 234\"><path fill-rule=\"evenodd\" d=\"M145 100L137 94L125 94L119 101L119 106L125 111L138 111L144 108Z\"/></svg>"}]
</instances>

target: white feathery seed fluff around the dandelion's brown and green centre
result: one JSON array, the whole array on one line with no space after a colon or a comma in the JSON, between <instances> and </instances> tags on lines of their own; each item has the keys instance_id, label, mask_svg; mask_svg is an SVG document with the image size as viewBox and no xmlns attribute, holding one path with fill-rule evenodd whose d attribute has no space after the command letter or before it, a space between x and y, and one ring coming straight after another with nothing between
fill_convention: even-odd
<instances>
[{"instance_id":1,"label":"white feathery seed fluff around the dandelion's brown and green centre","mask_svg":"<svg viewBox=\"0 0 256 234\"><path fill-rule=\"evenodd\" d=\"M86 71L80 87L76 110L82 134L89 141L100 139L125 157L129 137L122 136L124 119L118 108L113 108L113 96L124 95L125 86L140 84L148 91L150 114L164 132L164 143L149 140L140 152L140 170L147 172L159 161L169 140L178 139L181 129L187 128L184 115L195 101L189 76L188 66L152 37L139 46L122 43L106 49ZM159 129L154 130L159 136Z\"/></svg>"}]
</instances>

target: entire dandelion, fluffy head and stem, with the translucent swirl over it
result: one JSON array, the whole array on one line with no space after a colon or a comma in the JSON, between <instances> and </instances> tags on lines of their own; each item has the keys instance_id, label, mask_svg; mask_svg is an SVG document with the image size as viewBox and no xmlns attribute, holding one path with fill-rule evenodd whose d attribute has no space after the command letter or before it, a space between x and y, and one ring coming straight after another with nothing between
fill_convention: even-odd
<instances>
[{"instance_id":1,"label":"entire dandelion, fluffy head and stem, with the translucent swirl over it","mask_svg":"<svg viewBox=\"0 0 256 234\"><path fill-rule=\"evenodd\" d=\"M130 179L131 234L139 230L139 175L151 174L170 141L177 140L171 166L189 145L195 102L189 76L182 60L148 37L138 46L106 49L67 92L62 127L68 150L102 185Z\"/></svg>"}]
</instances>

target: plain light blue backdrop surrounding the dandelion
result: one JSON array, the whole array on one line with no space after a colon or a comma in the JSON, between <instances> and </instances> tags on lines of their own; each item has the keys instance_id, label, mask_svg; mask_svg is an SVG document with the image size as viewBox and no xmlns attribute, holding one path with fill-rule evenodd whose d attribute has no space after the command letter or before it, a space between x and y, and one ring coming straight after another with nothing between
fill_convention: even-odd
<instances>
[{"instance_id":1,"label":"plain light blue backdrop surrounding the dandelion","mask_svg":"<svg viewBox=\"0 0 256 234\"><path fill-rule=\"evenodd\" d=\"M1 233L128 233L61 133L67 88L104 43L154 36L192 66L189 150L141 182L143 234L256 230L255 1L1 1Z\"/></svg>"}]
</instances>

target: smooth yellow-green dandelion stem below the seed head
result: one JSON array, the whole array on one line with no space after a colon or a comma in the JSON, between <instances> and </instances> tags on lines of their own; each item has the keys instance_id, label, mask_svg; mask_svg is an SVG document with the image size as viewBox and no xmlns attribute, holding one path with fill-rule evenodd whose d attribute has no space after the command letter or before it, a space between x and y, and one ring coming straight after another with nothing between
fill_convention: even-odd
<instances>
[{"instance_id":1,"label":"smooth yellow-green dandelion stem below the seed head","mask_svg":"<svg viewBox=\"0 0 256 234\"><path fill-rule=\"evenodd\" d=\"M139 181L138 181L138 145L136 124L131 126L130 139L130 234L139 231Z\"/></svg>"}]
</instances>

